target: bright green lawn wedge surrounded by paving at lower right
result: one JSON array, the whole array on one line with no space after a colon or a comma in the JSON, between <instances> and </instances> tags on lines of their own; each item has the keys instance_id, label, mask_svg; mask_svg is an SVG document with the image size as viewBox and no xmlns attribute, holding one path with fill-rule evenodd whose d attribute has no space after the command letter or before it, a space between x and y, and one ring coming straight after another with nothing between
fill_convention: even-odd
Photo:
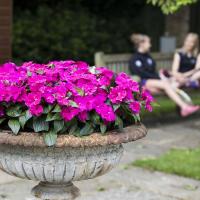
<instances>
[{"instance_id":1,"label":"bright green lawn wedge surrounded by paving at lower right","mask_svg":"<svg viewBox=\"0 0 200 200\"><path fill-rule=\"evenodd\" d=\"M131 165L200 180L200 148L171 149L159 158L136 160Z\"/></svg>"}]
</instances>

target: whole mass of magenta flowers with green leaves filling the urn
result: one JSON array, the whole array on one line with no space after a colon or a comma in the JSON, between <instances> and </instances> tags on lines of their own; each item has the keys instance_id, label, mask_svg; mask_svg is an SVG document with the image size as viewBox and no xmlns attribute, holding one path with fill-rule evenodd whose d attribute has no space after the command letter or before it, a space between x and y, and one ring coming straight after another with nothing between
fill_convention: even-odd
<instances>
[{"instance_id":1,"label":"whole mass of magenta flowers with green leaves filling the urn","mask_svg":"<svg viewBox=\"0 0 200 200\"><path fill-rule=\"evenodd\" d=\"M152 96L125 73L84 62L26 62L0 66L0 124L13 134L43 133L48 146L58 134L87 136L140 121Z\"/></svg>"}]
</instances>

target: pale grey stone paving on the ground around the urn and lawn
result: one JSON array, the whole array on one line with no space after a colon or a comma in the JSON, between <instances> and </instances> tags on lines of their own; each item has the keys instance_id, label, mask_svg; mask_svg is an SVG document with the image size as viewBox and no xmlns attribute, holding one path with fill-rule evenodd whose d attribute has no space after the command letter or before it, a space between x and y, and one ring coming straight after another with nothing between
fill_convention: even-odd
<instances>
[{"instance_id":1,"label":"pale grey stone paving on the ground around the urn and lawn","mask_svg":"<svg viewBox=\"0 0 200 200\"><path fill-rule=\"evenodd\" d=\"M170 148L200 146L199 130L200 119L150 128L146 138L125 145L122 162L111 173L75 183L82 192L77 200L200 200L199 181L128 165ZM0 200L35 200L30 190L36 184L0 172Z\"/></svg>"}]
</instances>

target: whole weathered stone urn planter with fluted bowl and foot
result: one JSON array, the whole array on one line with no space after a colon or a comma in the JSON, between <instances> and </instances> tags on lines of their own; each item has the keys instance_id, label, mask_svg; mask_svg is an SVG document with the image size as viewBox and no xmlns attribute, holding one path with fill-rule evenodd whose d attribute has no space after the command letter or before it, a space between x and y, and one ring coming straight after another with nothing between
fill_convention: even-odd
<instances>
[{"instance_id":1,"label":"whole weathered stone urn planter with fluted bowl and foot","mask_svg":"<svg viewBox=\"0 0 200 200\"><path fill-rule=\"evenodd\" d=\"M77 138L62 135L55 147L46 147L39 134L14 136L3 131L0 133L0 168L19 178L40 181L32 190L38 198L72 200L79 196L73 181L92 179L109 172L120 161L122 143L138 140L146 133L146 128L139 125L106 136L93 134Z\"/></svg>"}]
</instances>

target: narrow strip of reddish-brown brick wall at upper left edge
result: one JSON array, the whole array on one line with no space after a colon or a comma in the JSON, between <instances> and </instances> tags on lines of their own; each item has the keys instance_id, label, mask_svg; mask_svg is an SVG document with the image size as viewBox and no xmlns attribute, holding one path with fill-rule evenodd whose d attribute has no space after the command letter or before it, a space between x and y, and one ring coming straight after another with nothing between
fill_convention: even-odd
<instances>
[{"instance_id":1,"label":"narrow strip of reddish-brown brick wall at upper left edge","mask_svg":"<svg viewBox=\"0 0 200 200\"><path fill-rule=\"evenodd\" d=\"M12 0L0 0L0 63L12 55Z\"/></svg>"}]
</instances>

